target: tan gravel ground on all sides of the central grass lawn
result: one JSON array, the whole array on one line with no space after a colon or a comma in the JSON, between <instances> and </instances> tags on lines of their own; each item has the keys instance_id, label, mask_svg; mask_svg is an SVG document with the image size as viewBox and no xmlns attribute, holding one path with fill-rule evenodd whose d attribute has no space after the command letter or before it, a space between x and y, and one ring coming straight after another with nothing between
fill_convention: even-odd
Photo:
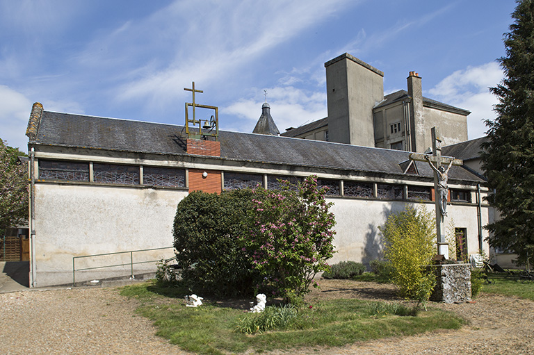
<instances>
[{"instance_id":1,"label":"tan gravel ground on all sides of the central grass lawn","mask_svg":"<svg viewBox=\"0 0 534 355\"><path fill-rule=\"evenodd\" d=\"M391 299L394 288L322 280L320 298ZM2 354L186 354L135 315L135 300L113 288L28 290L0 294ZM459 331L387 338L334 349L273 354L534 354L534 302L483 295L474 304L432 304L464 317Z\"/></svg>"}]
</instances>

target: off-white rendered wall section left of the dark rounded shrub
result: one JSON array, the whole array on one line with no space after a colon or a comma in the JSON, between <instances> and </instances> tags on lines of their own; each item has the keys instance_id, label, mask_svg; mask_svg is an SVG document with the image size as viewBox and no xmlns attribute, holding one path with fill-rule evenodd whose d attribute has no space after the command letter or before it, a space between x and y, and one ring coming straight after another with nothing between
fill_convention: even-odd
<instances>
[{"instance_id":1,"label":"off-white rendered wall section left of the dark rounded shrub","mask_svg":"<svg viewBox=\"0 0 534 355\"><path fill-rule=\"evenodd\" d=\"M120 188L95 185L35 185L35 286L72 283L72 258L172 247L172 223L180 190ZM134 254L136 261L174 256L172 249ZM76 259L76 269L129 263L130 255ZM106 269L124 276L130 267ZM140 270L154 271L154 264ZM127 273L126 273L127 274ZM76 281L97 279L99 272L76 273Z\"/></svg>"}]
</instances>

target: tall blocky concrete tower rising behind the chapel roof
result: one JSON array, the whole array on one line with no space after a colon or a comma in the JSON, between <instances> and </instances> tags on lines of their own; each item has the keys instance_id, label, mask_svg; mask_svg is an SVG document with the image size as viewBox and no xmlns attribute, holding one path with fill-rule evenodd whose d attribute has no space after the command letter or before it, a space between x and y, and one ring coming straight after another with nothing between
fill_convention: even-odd
<instances>
[{"instance_id":1,"label":"tall blocky concrete tower rising behind the chapel roof","mask_svg":"<svg viewBox=\"0 0 534 355\"><path fill-rule=\"evenodd\" d=\"M328 140L374 147L373 107L384 99L384 73L348 53L325 68Z\"/></svg>"}]
</instances>

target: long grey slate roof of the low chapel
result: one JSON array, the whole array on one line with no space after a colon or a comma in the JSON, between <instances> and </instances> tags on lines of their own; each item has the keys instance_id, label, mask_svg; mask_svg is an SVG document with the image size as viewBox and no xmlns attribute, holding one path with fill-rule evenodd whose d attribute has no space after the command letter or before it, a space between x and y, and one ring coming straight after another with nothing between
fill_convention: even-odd
<instances>
[{"instance_id":1,"label":"long grey slate roof of the low chapel","mask_svg":"<svg viewBox=\"0 0 534 355\"><path fill-rule=\"evenodd\" d=\"M254 133L219 133L223 159L410 176L403 174L399 165L409 159L407 151ZM49 111L43 111L33 143L145 154L186 154L184 126ZM416 165L421 176L433 176L427 163ZM449 179L482 181L462 167L453 167Z\"/></svg>"}]
</instances>

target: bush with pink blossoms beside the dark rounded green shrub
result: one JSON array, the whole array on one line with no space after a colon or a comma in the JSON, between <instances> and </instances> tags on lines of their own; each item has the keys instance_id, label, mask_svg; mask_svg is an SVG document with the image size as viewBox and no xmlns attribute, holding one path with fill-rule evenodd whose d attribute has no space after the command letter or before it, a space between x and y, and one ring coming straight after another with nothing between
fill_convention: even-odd
<instances>
[{"instance_id":1,"label":"bush with pink blossoms beside the dark rounded green shrub","mask_svg":"<svg viewBox=\"0 0 534 355\"><path fill-rule=\"evenodd\" d=\"M288 182L280 190L253 190L254 228L250 236L242 236L242 251L263 277L258 290L299 304L315 274L328 270L335 221L325 192L316 176L305 179L298 190Z\"/></svg>"}]
</instances>

